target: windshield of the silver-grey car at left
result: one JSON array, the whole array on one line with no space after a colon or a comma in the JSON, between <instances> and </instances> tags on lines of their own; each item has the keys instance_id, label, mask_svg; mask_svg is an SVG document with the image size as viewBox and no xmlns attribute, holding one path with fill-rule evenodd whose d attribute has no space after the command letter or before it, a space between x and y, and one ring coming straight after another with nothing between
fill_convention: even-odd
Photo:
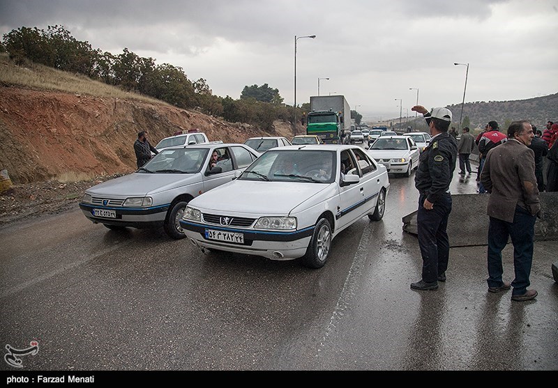
<instances>
[{"instance_id":1,"label":"windshield of the silver-grey car at left","mask_svg":"<svg viewBox=\"0 0 558 388\"><path fill-rule=\"evenodd\" d=\"M198 173L209 148L167 148L155 155L138 173Z\"/></svg>"}]
</instances>

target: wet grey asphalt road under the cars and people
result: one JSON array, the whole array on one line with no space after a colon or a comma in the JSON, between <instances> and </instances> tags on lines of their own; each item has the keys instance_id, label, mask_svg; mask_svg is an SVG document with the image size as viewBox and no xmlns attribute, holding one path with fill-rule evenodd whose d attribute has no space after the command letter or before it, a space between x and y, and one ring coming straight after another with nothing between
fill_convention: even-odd
<instances>
[{"instance_id":1,"label":"wet grey asphalt road under the cars and people","mask_svg":"<svg viewBox=\"0 0 558 388\"><path fill-rule=\"evenodd\" d=\"M536 242L534 301L487 292L485 247L452 248L446 283L411 290L422 261L402 217L418 193L414 174L390 181L384 219L343 231L320 270L109 231L78 209L1 228L0 345L38 341L22 371L558 370L558 242ZM475 176L451 189L474 193Z\"/></svg>"}]
</instances>

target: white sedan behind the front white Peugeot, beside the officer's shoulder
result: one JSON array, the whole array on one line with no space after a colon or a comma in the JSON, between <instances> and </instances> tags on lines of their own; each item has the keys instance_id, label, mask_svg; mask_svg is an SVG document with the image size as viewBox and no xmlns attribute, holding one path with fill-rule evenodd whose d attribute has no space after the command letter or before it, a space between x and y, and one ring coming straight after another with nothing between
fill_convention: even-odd
<instances>
[{"instance_id":1,"label":"white sedan behind the front white Peugeot, beside the officer's shoulder","mask_svg":"<svg viewBox=\"0 0 558 388\"><path fill-rule=\"evenodd\" d=\"M370 155L378 163L384 164L389 173L403 173L411 176L418 168L418 147L409 136L380 136L368 148Z\"/></svg>"}]
</instances>

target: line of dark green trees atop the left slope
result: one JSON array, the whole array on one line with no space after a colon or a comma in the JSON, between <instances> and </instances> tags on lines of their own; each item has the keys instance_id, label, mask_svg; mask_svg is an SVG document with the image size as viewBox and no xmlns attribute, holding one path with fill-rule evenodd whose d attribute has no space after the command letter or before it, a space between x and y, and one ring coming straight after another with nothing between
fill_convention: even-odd
<instances>
[{"instance_id":1,"label":"line of dark green trees atop the left slope","mask_svg":"<svg viewBox=\"0 0 558 388\"><path fill-rule=\"evenodd\" d=\"M188 79L183 68L153 58L140 57L124 48L114 55L93 49L89 42L75 39L63 26L13 29L3 35L0 52L7 52L18 65L27 61L79 73L125 91L141 93L182 109L198 109L204 114L231 123L249 123L271 131L273 121L293 121L292 107L283 104L276 88L268 84L245 86L239 99L211 93L206 79ZM301 117L308 105L298 108Z\"/></svg>"}]
</instances>

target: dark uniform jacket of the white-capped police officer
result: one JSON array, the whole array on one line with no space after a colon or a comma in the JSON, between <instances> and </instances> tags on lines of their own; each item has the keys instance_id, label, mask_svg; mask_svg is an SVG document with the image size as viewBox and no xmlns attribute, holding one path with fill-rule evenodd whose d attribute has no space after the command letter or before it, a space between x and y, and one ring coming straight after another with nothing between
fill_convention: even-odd
<instances>
[{"instance_id":1,"label":"dark uniform jacket of the white-capped police officer","mask_svg":"<svg viewBox=\"0 0 558 388\"><path fill-rule=\"evenodd\" d=\"M432 138L421 153L414 185L420 194L427 196L430 203L436 203L449 192L457 154L458 143L448 132Z\"/></svg>"}]
</instances>

